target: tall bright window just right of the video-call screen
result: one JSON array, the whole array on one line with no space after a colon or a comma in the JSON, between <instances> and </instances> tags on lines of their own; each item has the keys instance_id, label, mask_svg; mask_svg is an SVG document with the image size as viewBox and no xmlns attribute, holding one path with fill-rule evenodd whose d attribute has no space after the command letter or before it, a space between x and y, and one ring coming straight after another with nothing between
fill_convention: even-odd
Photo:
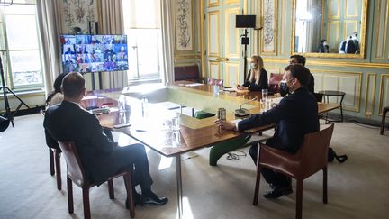
<instances>
[{"instance_id":1,"label":"tall bright window just right of the video-call screen","mask_svg":"<svg viewBox=\"0 0 389 219\"><path fill-rule=\"evenodd\" d=\"M160 78L160 0L123 0L123 15L129 46L128 78Z\"/></svg>"}]
</instances>

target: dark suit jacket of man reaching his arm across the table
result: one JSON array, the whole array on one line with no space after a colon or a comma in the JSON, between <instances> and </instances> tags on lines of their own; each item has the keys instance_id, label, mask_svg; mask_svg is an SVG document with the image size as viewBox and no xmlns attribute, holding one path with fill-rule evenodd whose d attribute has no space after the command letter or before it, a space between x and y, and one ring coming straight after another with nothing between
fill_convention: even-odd
<instances>
[{"instance_id":1,"label":"dark suit jacket of man reaching his arm across the table","mask_svg":"<svg viewBox=\"0 0 389 219\"><path fill-rule=\"evenodd\" d=\"M238 128L241 131L270 123L276 123L276 132L267 145L292 153L298 151L304 134L319 131L316 98L301 87L271 110L240 121Z\"/></svg>"}]
</instances>

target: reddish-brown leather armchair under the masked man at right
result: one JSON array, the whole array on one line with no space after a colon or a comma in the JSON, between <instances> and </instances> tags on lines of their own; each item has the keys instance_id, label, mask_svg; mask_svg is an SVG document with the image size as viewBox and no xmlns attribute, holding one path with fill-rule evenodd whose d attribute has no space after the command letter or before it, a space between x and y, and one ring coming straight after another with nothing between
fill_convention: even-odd
<instances>
[{"instance_id":1,"label":"reddish-brown leather armchair under the masked man at right","mask_svg":"<svg viewBox=\"0 0 389 219\"><path fill-rule=\"evenodd\" d=\"M323 170L323 203L327 204L327 156L333 124L319 131L305 134L303 145L295 154L280 151L267 145L258 150L257 181L253 205L258 205L259 180L262 168L274 169L297 180L296 214L302 218L303 179Z\"/></svg>"}]
</instances>

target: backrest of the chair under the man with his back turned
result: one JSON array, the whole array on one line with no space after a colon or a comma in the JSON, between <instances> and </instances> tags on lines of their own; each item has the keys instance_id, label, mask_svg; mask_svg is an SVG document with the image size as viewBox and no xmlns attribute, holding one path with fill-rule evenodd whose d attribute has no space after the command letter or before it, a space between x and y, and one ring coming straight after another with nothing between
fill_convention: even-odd
<instances>
[{"instance_id":1,"label":"backrest of the chair under the man with his back turned","mask_svg":"<svg viewBox=\"0 0 389 219\"><path fill-rule=\"evenodd\" d=\"M77 153L76 144L73 141L59 141L59 148L65 156L68 167L68 177L79 187L84 187L86 182L85 171Z\"/></svg>"}]
</instances>

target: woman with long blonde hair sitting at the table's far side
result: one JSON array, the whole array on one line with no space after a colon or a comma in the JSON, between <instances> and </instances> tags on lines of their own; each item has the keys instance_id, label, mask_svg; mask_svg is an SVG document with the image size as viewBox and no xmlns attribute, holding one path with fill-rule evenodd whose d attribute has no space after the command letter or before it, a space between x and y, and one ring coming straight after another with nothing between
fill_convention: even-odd
<instances>
[{"instance_id":1,"label":"woman with long blonde hair sitting at the table's far side","mask_svg":"<svg viewBox=\"0 0 389 219\"><path fill-rule=\"evenodd\" d=\"M246 82L237 87L239 90L261 91L268 89L267 71L260 56L252 56L250 70Z\"/></svg>"}]
</instances>

